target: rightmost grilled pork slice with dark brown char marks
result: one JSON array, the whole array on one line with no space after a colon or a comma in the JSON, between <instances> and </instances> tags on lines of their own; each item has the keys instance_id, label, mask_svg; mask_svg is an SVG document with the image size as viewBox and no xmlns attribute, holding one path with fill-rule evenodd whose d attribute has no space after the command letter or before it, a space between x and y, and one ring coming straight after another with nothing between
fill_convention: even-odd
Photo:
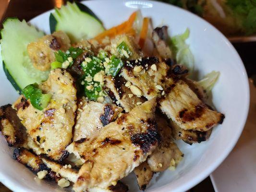
<instances>
[{"instance_id":1,"label":"rightmost grilled pork slice with dark brown char marks","mask_svg":"<svg viewBox=\"0 0 256 192\"><path fill-rule=\"evenodd\" d=\"M223 114L208 108L182 80L159 101L159 108L183 130L207 131L223 118Z\"/></svg>"}]
</instances>

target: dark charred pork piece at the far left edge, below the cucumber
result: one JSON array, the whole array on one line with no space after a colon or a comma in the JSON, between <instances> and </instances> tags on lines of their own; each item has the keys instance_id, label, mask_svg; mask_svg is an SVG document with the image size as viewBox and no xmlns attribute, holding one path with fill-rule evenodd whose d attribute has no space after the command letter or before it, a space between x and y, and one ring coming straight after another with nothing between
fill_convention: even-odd
<instances>
[{"instance_id":1,"label":"dark charred pork piece at the far left edge, below the cucumber","mask_svg":"<svg viewBox=\"0 0 256 192\"><path fill-rule=\"evenodd\" d=\"M25 142L25 128L10 104L0 107L0 131L9 146L20 146Z\"/></svg>"}]
</instances>

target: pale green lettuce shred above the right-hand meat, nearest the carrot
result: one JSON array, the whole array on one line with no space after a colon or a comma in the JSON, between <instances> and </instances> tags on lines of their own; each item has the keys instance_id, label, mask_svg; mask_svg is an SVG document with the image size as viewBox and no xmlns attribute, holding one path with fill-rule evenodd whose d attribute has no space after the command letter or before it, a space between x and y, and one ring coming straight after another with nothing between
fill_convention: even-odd
<instances>
[{"instance_id":1,"label":"pale green lettuce shred above the right-hand meat, nearest the carrot","mask_svg":"<svg viewBox=\"0 0 256 192\"><path fill-rule=\"evenodd\" d=\"M189 45L185 42L188 37L189 29L187 28L183 34L171 37L170 45L177 63L185 65L191 74L195 60Z\"/></svg>"}]
</instances>

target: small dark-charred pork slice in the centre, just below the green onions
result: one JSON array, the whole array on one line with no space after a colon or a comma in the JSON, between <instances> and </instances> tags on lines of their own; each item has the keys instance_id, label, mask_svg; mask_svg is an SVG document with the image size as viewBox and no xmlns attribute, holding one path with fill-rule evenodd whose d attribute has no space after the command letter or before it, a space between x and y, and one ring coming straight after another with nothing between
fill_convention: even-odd
<instances>
[{"instance_id":1,"label":"small dark-charred pork slice in the centre, just below the green onions","mask_svg":"<svg viewBox=\"0 0 256 192\"><path fill-rule=\"evenodd\" d=\"M134 107L144 103L146 101L143 97L137 97L129 88L129 84L122 77L112 78L107 76L106 80L106 92L110 96L112 102L120 105L126 112L131 111Z\"/></svg>"}]
</instances>

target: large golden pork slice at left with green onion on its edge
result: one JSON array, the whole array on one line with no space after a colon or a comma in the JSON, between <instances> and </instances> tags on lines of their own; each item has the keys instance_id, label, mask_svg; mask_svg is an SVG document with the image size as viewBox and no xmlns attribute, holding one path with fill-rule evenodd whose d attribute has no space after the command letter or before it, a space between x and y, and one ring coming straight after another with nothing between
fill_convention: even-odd
<instances>
[{"instance_id":1,"label":"large golden pork slice at left with green onion on its edge","mask_svg":"<svg viewBox=\"0 0 256 192\"><path fill-rule=\"evenodd\" d=\"M50 158L61 161L71 143L76 111L76 89L72 76L63 69L51 71L39 87L52 95L47 108L38 110L21 96L14 104L27 133Z\"/></svg>"}]
</instances>

